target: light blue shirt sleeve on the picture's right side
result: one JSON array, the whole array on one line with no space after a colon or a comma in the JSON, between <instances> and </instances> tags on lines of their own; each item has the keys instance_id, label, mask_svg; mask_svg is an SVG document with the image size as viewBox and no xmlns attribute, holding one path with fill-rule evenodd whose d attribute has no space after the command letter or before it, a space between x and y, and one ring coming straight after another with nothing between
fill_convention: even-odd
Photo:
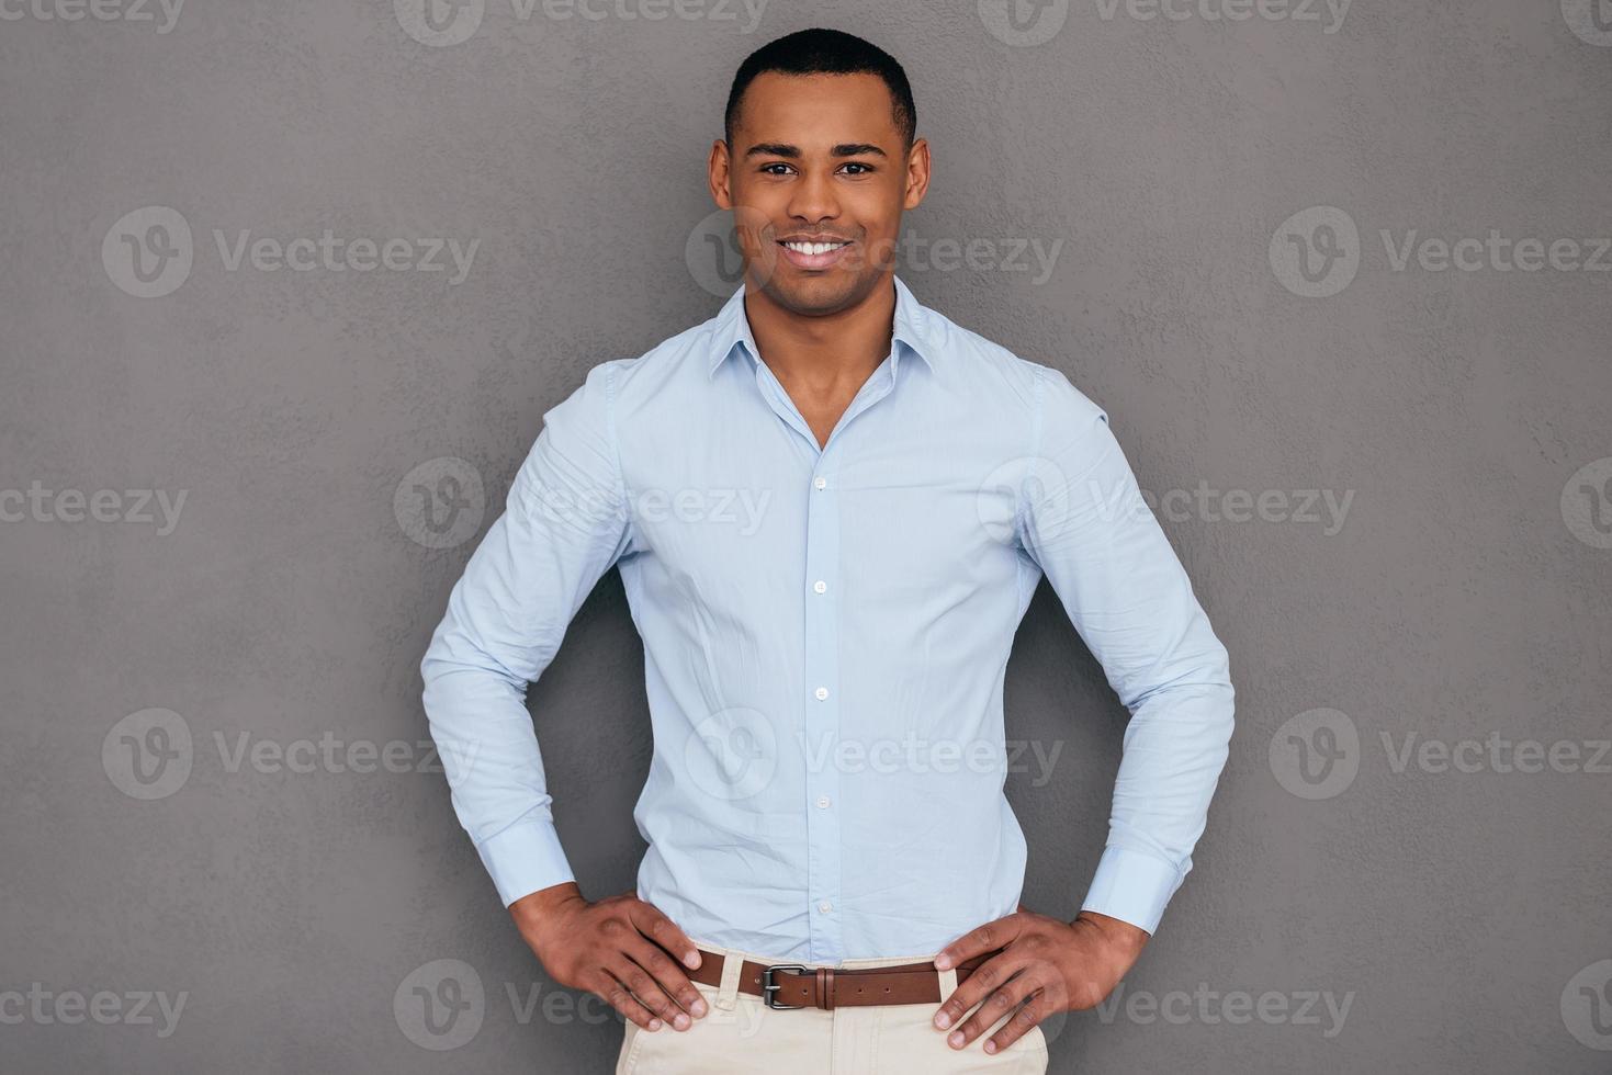
<instances>
[{"instance_id":1,"label":"light blue shirt sleeve on the picture's right side","mask_svg":"<svg viewBox=\"0 0 1612 1075\"><path fill-rule=\"evenodd\" d=\"M1130 711L1082 909L1153 933L1191 870L1233 727L1228 656L1107 414L1043 369L1016 532Z\"/></svg>"}]
</instances>

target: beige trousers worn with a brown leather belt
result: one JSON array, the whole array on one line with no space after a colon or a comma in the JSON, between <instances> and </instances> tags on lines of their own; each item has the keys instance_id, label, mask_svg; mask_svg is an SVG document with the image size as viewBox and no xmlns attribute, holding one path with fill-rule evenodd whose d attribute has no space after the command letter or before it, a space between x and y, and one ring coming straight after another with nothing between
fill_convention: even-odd
<instances>
[{"instance_id":1,"label":"beige trousers worn with a brown leather belt","mask_svg":"<svg viewBox=\"0 0 1612 1075\"><path fill-rule=\"evenodd\" d=\"M866 1007L771 1009L759 996L738 991L738 969L745 959L762 964L800 962L722 948L688 938L708 953L719 953L722 985L695 983L709 1011L688 1030L663 1023L645 1030L627 1020L627 1033L616 1059L616 1075L1045 1075L1046 1038L1035 1027L1001 1052L987 1052L985 1038L1008 1020L1003 1015L962 1049L946 1044L946 1035L961 1025L940 1030L932 1022L940 1004L958 988L958 972L940 972L940 1001L933 1004L872 1004ZM935 953L890 959L846 959L838 964L888 967L933 959ZM970 1012L972 1014L972 1012Z\"/></svg>"}]
</instances>

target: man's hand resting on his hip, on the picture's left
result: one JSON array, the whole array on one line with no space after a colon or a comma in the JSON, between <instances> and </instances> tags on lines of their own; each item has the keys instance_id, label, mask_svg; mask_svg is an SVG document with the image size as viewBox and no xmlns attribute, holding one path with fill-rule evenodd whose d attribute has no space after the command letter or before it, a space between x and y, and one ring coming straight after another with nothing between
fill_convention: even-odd
<instances>
[{"instance_id":1,"label":"man's hand resting on his hip, on the picture's left","mask_svg":"<svg viewBox=\"0 0 1612 1075\"><path fill-rule=\"evenodd\" d=\"M555 982L604 998L645 1030L663 1022L688 1030L690 1015L706 1014L700 990L666 954L698 967L693 941L637 893L588 903L566 882L521 896L509 914Z\"/></svg>"}]
</instances>

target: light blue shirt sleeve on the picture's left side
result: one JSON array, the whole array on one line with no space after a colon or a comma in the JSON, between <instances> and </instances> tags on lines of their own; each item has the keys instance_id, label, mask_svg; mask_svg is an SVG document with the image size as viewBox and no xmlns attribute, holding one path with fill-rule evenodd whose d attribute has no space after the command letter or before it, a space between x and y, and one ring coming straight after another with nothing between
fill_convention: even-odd
<instances>
[{"instance_id":1,"label":"light blue shirt sleeve on the picture's left side","mask_svg":"<svg viewBox=\"0 0 1612 1075\"><path fill-rule=\"evenodd\" d=\"M453 809L505 906L575 878L555 832L526 688L629 542L614 366L595 366L545 413L419 666Z\"/></svg>"}]
</instances>

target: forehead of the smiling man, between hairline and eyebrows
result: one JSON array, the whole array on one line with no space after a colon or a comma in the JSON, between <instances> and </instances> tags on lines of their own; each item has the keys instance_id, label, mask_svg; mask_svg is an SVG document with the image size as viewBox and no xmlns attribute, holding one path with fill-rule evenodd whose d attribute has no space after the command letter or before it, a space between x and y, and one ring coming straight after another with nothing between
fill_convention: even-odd
<instances>
[{"instance_id":1,"label":"forehead of the smiling man, between hairline and eyebrows","mask_svg":"<svg viewBox=\"0 0 1612 1075\"><path fill-rule=\"evenodd\" d=\"M788 142L814 148L843 142L896 145L901 132L895 97L877 74L766 71L745 87L733 137L745 145Z\"/></svg>"}]
</instances>

